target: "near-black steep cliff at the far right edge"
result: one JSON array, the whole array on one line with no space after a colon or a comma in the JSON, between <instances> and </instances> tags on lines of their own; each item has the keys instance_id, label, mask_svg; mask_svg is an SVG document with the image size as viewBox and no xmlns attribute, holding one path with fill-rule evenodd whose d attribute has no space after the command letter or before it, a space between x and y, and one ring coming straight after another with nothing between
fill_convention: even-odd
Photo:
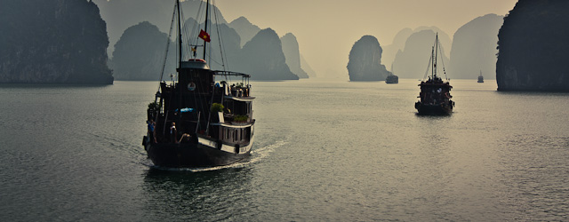
<instances>
[{"instance_id":1,"label":"near-black steep cliff at the far right edge","mask_svg":"<svg viewBox=\"0 0 569 222\"><path fill-rule=\"evenodd\" d=\"M499 91L569 91L569 1L519 0L498 34Z\"/></svg>"}]
</instances>

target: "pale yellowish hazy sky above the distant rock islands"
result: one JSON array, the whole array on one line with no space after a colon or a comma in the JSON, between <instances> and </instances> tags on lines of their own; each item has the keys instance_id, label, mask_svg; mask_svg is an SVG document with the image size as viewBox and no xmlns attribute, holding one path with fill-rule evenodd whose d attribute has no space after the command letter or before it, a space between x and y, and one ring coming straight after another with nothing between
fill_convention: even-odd
<instances>
[{"instance_id":1,"label":"pale yellowish hazy sky above the distant rock islands","mask_svg":"<svg viewBox=\"0 0 569 222\"><path fill-rule=\"evenodd\" d=\"M505 15L517 0L214 0L228 22L240 16L279 36L293 33L301 54L322 77L348 79L351 46L365 35L381 45L403 28L436 26L451 38L470 20ZM384 64L385 65L385 64ZM389 65L387 66L389 69Z\"/></svg>"}]
</instances>

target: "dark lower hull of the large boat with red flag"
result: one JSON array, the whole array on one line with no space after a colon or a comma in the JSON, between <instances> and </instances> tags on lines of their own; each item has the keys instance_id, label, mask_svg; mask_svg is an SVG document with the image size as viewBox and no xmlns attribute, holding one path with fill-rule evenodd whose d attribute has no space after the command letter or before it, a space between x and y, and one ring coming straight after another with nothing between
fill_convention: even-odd
<instances>
[{"instance_id":1,"label":"dark lower hull of the large boat with red flag","mask_svg":"<svg viewBox=\"0 0 569 222\"><path fill-rule=\"evenodd\" d=\"M146 150L152 163L167 168L224 166L240 162L251 153L250 147L246 152L236 154L200 143L148 144Z\"/></svg>"}]
</instances>

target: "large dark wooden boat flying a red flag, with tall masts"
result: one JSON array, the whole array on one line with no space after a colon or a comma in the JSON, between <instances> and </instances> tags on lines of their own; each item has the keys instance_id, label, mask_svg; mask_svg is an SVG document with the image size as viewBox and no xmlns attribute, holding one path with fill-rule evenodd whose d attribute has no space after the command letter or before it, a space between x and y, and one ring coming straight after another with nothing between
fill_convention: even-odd
<instances>
[{"instance_id":1,"label":"large dark wooden boat flying a red flag, with tall masts","mask_svg":"<svg viewBox=\"0 0 569 222\"><path fill-rule=\"evenodd\" d=\"M182 59L179 0L175 7L178 75L172 83L160 81L156 98L148 105L148 134L143 139L148 157L156 166L167 168L211 167L242 161L250 155L253 145L251 76L214 71L204 59L196 59L196 53L194 58ZM208 11L209 1L206 18ZM204 40L206 58L207 19L204 26L199 35ZM228 83L231 77L240 82ZM223 81L217 82L217 78Z\"/></svg>"}]
</instances>

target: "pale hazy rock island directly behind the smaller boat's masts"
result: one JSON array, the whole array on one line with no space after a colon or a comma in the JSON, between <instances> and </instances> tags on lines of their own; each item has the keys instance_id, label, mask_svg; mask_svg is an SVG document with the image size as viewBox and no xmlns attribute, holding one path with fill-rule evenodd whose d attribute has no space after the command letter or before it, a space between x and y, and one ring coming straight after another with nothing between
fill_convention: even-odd
<instances>
[{"instance_id":1,"label":"pale hazy rock island directly behind the smaller boat's masts","mask_svg":"<svg viewBox=\"0 0 569 222\"><path fill-rule=\"evenodd\" d=\"M439 33L440 35L441 33ZM421 79L424 77L427 68L429 67L429 58L432 52L433 44L435 44L436 33L431 29L422 30L407 38L405 42L405 49L397 52L396 58L393 61L394 75L399 78L413 78ZM440 36L439 36L440 37ZM450 38L448 38L450 39ZM446 40L450 41L450 40ZM444 43L444 39L439 38L443 55L438 55L439 59L442 56L444 65L448 65L448 58L445 56L444 45L450 45L448 42ZM439 62L439 66L443 65ZM440 74L445 78L445 74ZM453 76L448 76L452 78Z\"/></svg>"}]
</instances>

